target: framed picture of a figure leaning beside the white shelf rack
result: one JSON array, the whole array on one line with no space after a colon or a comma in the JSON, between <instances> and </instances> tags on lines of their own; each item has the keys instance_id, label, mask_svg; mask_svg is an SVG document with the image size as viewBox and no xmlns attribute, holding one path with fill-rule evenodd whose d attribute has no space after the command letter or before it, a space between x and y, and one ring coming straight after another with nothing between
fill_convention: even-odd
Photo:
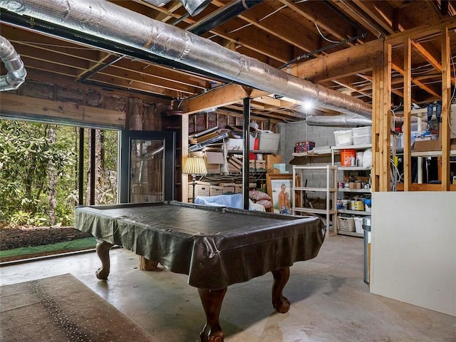
<instances>
[{"instance_id":1,"label":"framed picture of a figure leaning beside the white shelf rack","mask_svg":"<svg viewBox=\"0 0 456 342\"><path fill-rule=\"evenodd\" d=\"M282 185L285 185L285 193L288 194L288 199L280 194ZM293 175L290 173L266 173L266 191L271 197L272 212L276 214L292 214ZM281 197L281 200L279 200L279 197ZM285 209L281 205L284 204L284 199L287 203Z\"/></svg>"}]
</instances>

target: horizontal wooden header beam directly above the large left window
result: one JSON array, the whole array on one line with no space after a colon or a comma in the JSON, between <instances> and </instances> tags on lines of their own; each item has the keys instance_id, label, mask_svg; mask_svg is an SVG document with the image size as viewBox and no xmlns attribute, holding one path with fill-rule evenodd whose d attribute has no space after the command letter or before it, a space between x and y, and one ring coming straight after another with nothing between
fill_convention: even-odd
<instances>
[{"instance_id":1,"label":"horizontal wooden header beam directly above the large left window","mask_svg":"<svg viewBox=\"0 0 456 342\"><path fill-rule=\"evenodd\" d=\"M1 93L0 115L88 127L125 128L125 113L77 103Z\"/></svg>"}]
</instances>

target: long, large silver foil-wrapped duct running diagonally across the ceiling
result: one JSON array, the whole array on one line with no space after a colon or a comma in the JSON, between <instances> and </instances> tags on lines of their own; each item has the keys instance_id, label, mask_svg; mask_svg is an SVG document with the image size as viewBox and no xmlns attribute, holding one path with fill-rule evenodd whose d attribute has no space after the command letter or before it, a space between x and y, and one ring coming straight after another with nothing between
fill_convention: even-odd
<instances>
[{"instance_id":1,"label":"long, large silver foil-wrapped duct running diagonally across the ceiling","mask_svg":"<svg viewBox=\"0 0 456 342\"><path fill-rule=\"evenodd\" d=\"M108 1L0 0L0 8L122 43L271 94L299 101L314 100L323 108L342 113L367 118L372 115L371 105L358 98L289 75L209 39Z\"/></svg>"}]
</instances>

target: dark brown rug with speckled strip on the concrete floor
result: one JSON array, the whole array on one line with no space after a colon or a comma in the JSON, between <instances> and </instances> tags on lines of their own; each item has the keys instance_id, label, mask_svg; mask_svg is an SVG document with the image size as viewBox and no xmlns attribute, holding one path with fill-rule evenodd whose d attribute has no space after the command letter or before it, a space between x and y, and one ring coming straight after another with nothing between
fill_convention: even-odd
<instances>
[{"instance_id":1,"label":"dark brown rug with speckled strip on the concrete floor","mask_svg":"<svg viewBox=\"0 0 456 342\"><path fill-rule=\"evenodd\" d=\"M71 274L0 286L0 341L159 342Z\"/></svg>"}]
</instances>

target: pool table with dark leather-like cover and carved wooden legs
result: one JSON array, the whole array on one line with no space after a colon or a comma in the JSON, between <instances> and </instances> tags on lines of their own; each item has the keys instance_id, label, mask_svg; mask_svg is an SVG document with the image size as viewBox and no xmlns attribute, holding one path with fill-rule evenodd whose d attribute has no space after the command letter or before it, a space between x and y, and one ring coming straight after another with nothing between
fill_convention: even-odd
<instances>
[{"instance_id":1,"label":"pool table with dark leather-like cover and carved wooden legs","mask_svg":"<svg viewBox=\"0 0 456 342\"><path fill-rule=\"evenodd\" d=\"M289 311L290 302L282 294L289 267L316 257L325 229L318 217L176 201L78 206L75 217L77 229L97 238L102 264L98 279L108 278L109 250L114 245L187 274L206 315L202 342L224 341L219 313L231 284L271 271L274 309Z\"/></svg>"}]
</instances>

